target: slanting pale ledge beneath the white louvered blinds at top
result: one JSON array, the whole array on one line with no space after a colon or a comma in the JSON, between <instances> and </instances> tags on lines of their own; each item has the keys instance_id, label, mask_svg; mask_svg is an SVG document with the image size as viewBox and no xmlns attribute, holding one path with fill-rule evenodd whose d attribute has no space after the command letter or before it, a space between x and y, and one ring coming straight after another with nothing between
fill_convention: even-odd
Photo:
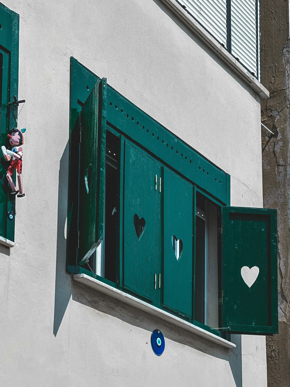
<instances>
[{"instance_id":1,"label":"slanting pale ledge beneath the white louvered blinds at top","mask_svg":"<svg viewBox=\"0 0 290 387\"><path fill-rule=\"evenodd\" d=\"M228 65L239 77L253 89L261 99L269 98L269 91L258 79L250 74L212 35L210 35L192 16L179 5L176 0L161 0L175 15L197 35L224 63Z\"/></svg>"}]
</instances>

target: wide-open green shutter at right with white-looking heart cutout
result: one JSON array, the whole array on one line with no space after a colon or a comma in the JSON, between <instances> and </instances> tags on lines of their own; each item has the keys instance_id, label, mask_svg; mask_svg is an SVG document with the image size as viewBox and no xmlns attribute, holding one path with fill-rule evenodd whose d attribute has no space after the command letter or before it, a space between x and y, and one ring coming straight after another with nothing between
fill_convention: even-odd
<instances>
[{"instance_id":1,"label":"wide-open green shutter at right with white-looking heart cutout","mask_svg":"<svg viewBox=\"0 0 290 387\"><path fill-rule=\"evenodd\" d=\"M277 277L276 210L223 207L223 327L278 333Z\"/></svg>"}]
</instances>

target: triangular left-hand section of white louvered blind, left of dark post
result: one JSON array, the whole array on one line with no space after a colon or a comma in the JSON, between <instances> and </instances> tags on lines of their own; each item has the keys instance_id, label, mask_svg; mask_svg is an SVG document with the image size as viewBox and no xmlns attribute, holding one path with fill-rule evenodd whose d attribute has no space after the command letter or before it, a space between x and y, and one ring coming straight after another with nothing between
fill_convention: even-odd
<instances>
[{"instance_id":1,"label":"triangular left-hand section of white louvered blind, left of dark post","mask_svg":"<svg viewBox=\"0 0 290 387\"><path fill-rule=\"evenodd\" d=\"M226 0L179 0L220 43L227 46Z\"/></svg>"}]
</instances>

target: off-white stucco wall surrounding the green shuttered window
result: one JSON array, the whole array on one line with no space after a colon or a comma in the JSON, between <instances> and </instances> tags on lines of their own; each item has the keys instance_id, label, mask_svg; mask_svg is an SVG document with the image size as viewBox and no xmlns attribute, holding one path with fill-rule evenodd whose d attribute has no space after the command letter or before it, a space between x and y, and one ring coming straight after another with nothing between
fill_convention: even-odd
<instances>
[{"instance_id":1,"label":"off-white stucco wall surrounding the green shuttered window","mask_svg":"<svg viewBox=\"0 0 290 387\"><path fill-rule=\"evenodd\" d=\"M161 1L5 5L20 15L27 131L16 243L0 245L1 384L266 386L264 336L233 335L228 351L72 283L64 232L70 56L230 173L232 205L263 205L259 98Z\"/></svg>"}]
</instances>

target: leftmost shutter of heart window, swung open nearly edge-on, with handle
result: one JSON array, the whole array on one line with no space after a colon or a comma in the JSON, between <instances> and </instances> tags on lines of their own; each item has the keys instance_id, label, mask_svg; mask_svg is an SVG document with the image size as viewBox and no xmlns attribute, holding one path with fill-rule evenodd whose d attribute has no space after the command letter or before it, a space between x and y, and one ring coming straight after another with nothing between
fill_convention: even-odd
<instances>
[{"instance_id":1,"label":"leftmost shutter of heart window, swung open nearly edge-on, with handle","mask_svg":"<svg viewBox=\"0 0 290 387\"><path fill-rule=\"evenodd\" d=\"M81 111L78 262L84 264L103 238L107 79L98 80Z\"/></svg>"}]
</instances>

